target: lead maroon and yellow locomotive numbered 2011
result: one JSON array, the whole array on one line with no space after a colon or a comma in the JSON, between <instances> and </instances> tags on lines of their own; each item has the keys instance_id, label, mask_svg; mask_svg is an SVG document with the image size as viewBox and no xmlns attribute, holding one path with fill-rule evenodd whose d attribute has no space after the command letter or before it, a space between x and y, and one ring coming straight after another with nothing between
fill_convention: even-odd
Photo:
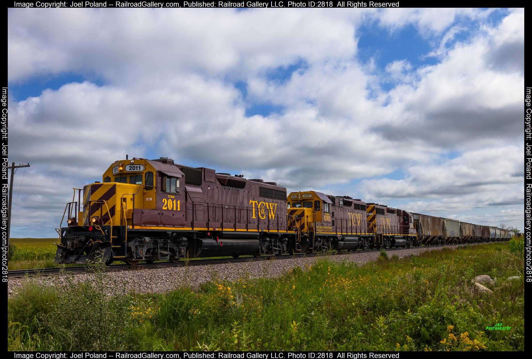
<instances>
[{"instance_id":1,"label":"lead maroon and yellow locomotive numbered 2011","mask_svg":"<svg viewBox=\"0 0 532 359\"><path fill-rule=\"evenodd\" d=\"M68 226L58 229L59 263L85 263L98 255L107 263L137 264L282 254L295 241L295 232L287 230L285 187L261 179L169 158L134 158L116 161L102 182L86 185L82 206L77 191L78 201L74 190L65 209Z\"/></svg>"}]
</instances>

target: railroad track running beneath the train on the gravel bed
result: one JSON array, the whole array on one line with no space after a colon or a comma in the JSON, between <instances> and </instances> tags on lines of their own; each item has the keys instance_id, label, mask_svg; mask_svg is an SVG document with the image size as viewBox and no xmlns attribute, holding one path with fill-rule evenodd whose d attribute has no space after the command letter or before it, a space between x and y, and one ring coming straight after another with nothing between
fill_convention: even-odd
<instances>
[{"instance_id":1,"label":"railroad track running beneath the train on the gravel bed","mask_svg":"<svg viewBox=\"0 0 532 359\"><path fill-rule=\"evenodd\" d=\"M452 247L466 244L487 244L487 243L497 243L497 242L482 242L482 243L463 243L463 244L446 244L446 245L429 245L427 247ZM386 251L398 251L404 249L414 249L420 247L399 247L399 248L388 248ZM185 266L205 266L207 264L218 264L218 263L237 263L237 262L257 262L265 261L270 259L290 259L290 258L304 258L304 257L318 257L323 256L327 257L329 255L344 255L344 254L353 254L353 253L369 253L369 252L379 252L380 249L371 249L371 250L355 250L355 251L341 251L341 252L314 252L314 253L297 253L297 254L283 254L283 255L263 255L261 257L239 257L239 258L214 258L214 259L191 259L191 260L181 260L177 263L172 262L154 262L154 263L140 263L136 266L131 266L130 264L111 264L105 268L106 271L117 271L117 270L131 270L131 269L148 269L148 268L163 268L163 267L185 267ZM35 277L35 276L52 276L57 275L61 270L66 270L72 273L85 273L90 272L93 266L76 266L76 267L55 267L55 268L38 268L38 269L16 269L8 270L8 278L20 278L20 277Z\"/></svg>"}]
</instances>

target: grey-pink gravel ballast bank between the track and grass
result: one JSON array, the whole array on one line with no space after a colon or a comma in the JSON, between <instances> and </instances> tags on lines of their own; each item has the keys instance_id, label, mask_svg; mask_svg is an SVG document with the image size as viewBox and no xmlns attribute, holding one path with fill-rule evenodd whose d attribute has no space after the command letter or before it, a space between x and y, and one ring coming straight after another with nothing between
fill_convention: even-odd
<instances>
[{"instance_id":1,"label":"grey-pink gravel ballast bank between the track and grass","mask_svg":"<svg viewBox=\"0 0 532 359\"><path fill-rule=\"evenodd\" d=\"M453 247L451 247L453 248ZM389 251L391 257L397 254L399 258L409 257L411 254L419 255L425 251L441 250L442 247L419 247L404 250ZM355 262L358 264L375 261L379 257L379 252L355 252L342 255L330 255L327 258L333 262ZM104 275L107 288L107 294L117 293L117 286L125 288L128 292L135 293L166 293L178 287L197 288L203 283L213 279L227 279L234 281L239 278L276 278L294 267L301 267L303 270L314 262L324 257L304 257L304 258L285 258L259 260L253 262L233 262L207 264L205 266L184 266L184 267L165 267L151 269L132 269L123 271L110 271ZM49 277L31 277L31 278L10 278L7 282L8 296L18 294L20 288L27 280L34 280L37 283L57 286L64 284L65 281L79 283L82 281L94 282L96 277L94 273L76 273L69 275L56 275Z\"/></svg>"}]
</instances>

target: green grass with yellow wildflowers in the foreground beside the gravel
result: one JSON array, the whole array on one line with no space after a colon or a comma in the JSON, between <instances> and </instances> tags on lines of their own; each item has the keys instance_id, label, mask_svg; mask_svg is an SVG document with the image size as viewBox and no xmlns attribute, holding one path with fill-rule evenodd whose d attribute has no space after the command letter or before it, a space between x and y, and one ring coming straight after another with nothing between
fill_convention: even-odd
<instances>
[{"instance_id":1,"label":"green grass with yellow wildflowers in the foreground beside the gravel","mask_svg":"<svg viewBox=\"0 0 532 359\"><path fill-rule=\"evenodd\" d=\"M117 285L109 296L103 280L93 286L66 280L54 289L29 280L8 301L8 346L27 351L523 351L522 271L509 244L494 243L403 259L381 255L360 267L326 258L277 279L214 276L201 288L166 295L131 294ZM495 279L487 285L493 295L472 290L470 280L481 274ZM521 279L506 280L510 276ZM120 328L111 324L117 318ZM497 323L511 330L486 330ZM109 326L113 330L105 331ZM83 328L94 329L89 335Z\"/></svg>"}]
</instances>

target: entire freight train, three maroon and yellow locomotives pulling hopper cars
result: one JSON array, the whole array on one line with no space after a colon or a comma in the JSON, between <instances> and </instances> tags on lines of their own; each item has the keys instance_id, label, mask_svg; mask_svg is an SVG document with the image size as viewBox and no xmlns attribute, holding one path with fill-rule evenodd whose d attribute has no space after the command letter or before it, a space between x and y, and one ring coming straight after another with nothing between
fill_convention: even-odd
<instances>
[{"instance_id":1,"label":"entire freight train, three maroon and yellow locomotives pulling hopper cars","mask_svg":"<svg viewBox=\"0 0 532 359\"><path fill-rule=\"evenodd\" d=\"M102 182L74 189L56 230L57 263L101 257L129 264L503 241L513 235L349 196L287 194L275 182L165 157L115 161Z\"/></svg>"}]
</instances>

